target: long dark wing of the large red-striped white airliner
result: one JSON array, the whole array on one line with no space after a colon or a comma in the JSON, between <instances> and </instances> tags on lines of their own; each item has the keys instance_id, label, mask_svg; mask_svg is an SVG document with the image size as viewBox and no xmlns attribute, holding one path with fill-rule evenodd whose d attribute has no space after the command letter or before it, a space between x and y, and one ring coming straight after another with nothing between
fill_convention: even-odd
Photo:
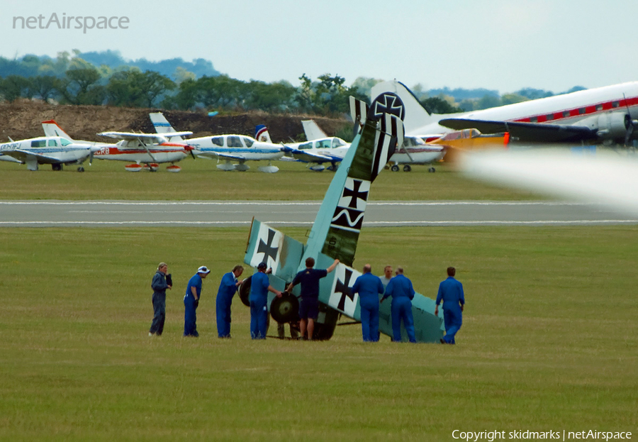
<instances>
[{"instance_id":1,"label":"long dark wing of the large red-striped white airliner","mask_svg":"<svg viewBox=\"0 0 638 442\"><path fill-rule=\"evenodd\" d=\"M511 137L528 143L562 143L596 138L596 131L590 128L562 124L483 121L466 118L445 118L439 121L439 124L457 131L474 128L481 131L481 133L509 132Z\"/></svg>"}]
</instances>

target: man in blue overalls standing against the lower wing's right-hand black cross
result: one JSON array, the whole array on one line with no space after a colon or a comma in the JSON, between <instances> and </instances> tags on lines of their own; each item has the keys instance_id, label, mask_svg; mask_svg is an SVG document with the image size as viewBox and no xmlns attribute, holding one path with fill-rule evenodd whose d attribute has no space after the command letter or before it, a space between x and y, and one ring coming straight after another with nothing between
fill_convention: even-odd
<instances>
[{"instance_id":1,"label":"man in blue overalls standing against the lower wing's right-hand black cross","mask_svg":"<svg viewBox=\"0 0 638 442\"><path fill-rule=\"evenodd\" d=\"M364 273L352 286L352 293L359 294L361 306L361 329L364 342L379 341L379 294L384 292L381 278L371 273L369 264L364 265Z\"/></svg>"}]
</instances>

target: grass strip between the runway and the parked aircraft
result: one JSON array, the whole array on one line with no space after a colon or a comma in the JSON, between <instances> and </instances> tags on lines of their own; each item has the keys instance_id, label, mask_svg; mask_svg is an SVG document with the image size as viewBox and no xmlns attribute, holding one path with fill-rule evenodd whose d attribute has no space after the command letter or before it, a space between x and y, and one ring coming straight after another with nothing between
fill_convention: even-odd
<instances>
[{"instance_id":1,"label":"grass strip between the runway and the parked aircraft","mask_svg":"<svg viewBox=\"0 0 638 442\"><path fill-rule=\"evenodd\" d=\"M179 164L179 173L167 173L162 165L156 173L127 172L125 162L95 160L86 172L69 166L53 172L41 166L29 172L25 165L0 161L0 200L7 199L133 199L133 200L317 200L323 199L332 172L312 172L299 162L278 161L281 170L264 174L261 162L249 162L247 172L223 172L213 160L191 160ZM493 187L461 176L449 165L414 166L412 172L390 172L374 182L371 199L376 200L511 200L543 199L531 192Z\"/></svg>"}]
</instances>

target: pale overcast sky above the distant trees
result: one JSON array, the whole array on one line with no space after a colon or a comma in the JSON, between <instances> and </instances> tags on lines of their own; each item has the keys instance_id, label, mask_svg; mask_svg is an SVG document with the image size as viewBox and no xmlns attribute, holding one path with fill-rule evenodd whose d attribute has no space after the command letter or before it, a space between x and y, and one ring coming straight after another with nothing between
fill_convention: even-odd
<instances>
[{"instance_id":1,"label":"pale overcast sky above the distant trees","mask_svg":"<svg viewBox=\"0 0 638 442\"><path fill-rule=\"evenodd\" d=\"M638 79L636 0L0 0L0 55L118 50L126 59L211 60L241 80L306 73L412 87L562 92ZM128 18L128 29L21 28L15 17ZM84 24L84 18L81 21ZM91 20L87 21L90 26Z\"/></svg>"}]
</instances>

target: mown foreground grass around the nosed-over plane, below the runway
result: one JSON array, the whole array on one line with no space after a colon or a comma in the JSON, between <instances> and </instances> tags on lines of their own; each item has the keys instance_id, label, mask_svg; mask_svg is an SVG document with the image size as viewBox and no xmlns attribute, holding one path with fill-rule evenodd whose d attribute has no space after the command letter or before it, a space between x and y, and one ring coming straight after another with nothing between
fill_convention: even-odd
<instances>
[{"instance_id":1,"label":"mown foreground grass around the nosed-over plane, below the runway","mask_svg":"<svg viewBox=\"0 0 638 442\"><path fill-rule=\"evenodd\" d=\"M306 232L284 230L300 241ZM338 327L324 343L253 342L236 298L233 339L218 340L216 289L242 261L247 229L0 229L0 439L635 434L637 234L637 226L365 229L356 267L403 265L430 296L447 265L464 283L459 344L411 346L387 337L364 345L358 326ZM149 286L162 260L175 289L164 336L149 338ZM213 268L201 337L184 339L181 298L199 265Z\"/></svg>"}]
</instances>

